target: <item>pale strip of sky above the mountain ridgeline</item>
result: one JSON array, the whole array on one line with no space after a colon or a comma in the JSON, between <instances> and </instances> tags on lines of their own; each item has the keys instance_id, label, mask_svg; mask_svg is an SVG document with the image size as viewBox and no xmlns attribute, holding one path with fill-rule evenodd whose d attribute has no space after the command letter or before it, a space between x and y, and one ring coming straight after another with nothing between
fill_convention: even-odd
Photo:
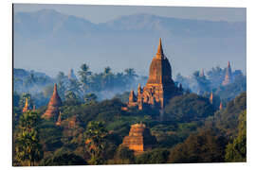
<instances>
[{"instance_id":1,"label":"pale strip of sky above the mountain ridgeline","mask_svg":"<svg viewBox=\"0 0 256 170\"><path fill-rule=\"evenodd\" d=\"M121 15L152 13L158 16L210 21L246 21L246 8L190 8L190 7L138 7L138 6L88 6L88 5L37 5L15 4L14 12L36 11L52 8L59 12L85 18L92 23L104 23ZM100 12L101 11L101 12ZM102 15L103 13L103 15Z\"/></svg>"}]
</instances>

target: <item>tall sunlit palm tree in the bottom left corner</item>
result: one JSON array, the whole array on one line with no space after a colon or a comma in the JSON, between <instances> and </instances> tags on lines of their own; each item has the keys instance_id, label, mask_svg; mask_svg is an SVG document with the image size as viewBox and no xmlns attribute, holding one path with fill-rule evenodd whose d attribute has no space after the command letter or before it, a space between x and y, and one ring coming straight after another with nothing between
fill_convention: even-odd
<instances>
[{"instance_id":1,"label":"tall sunlit palm tree in the bottom left corner","mask_svg":"<svg viewBox=\"0 0 256 170\"><path fill-rule=\"evenodd\" d=\"M39 141L40 116L35 111L24 112L19 120L19 129L14 142L15 161L19 165L35 165L42 160L44 152Z\"/></svg>"}]
</instances>

